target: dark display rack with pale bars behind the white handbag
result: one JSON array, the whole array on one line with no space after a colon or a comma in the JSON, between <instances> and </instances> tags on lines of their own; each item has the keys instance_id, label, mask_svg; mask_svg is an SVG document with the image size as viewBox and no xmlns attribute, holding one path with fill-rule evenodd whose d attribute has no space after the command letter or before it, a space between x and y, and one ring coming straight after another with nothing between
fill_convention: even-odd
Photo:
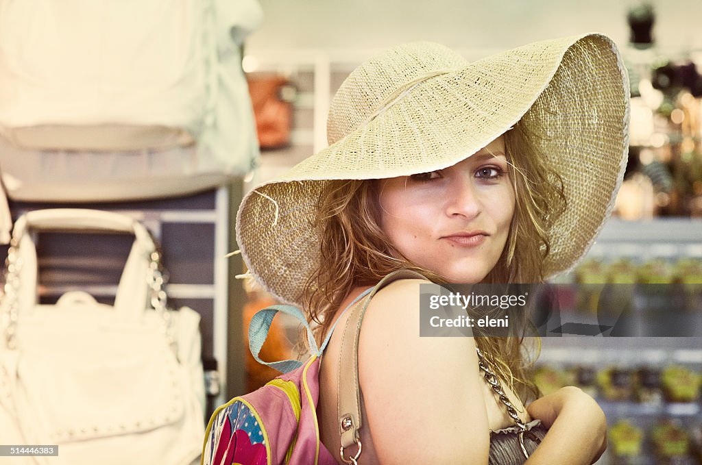
<instances>
[{"instance_id":1,"label":"dark display rack with pale bars behind the white handbag","mask_svg":"<svg viewBox=\"0 0 702 465\"><path fill-rule=\"evenodd\" d=\"M96 208L143 222L161 244L173 308L190 306L201 316L202 358L216 360L220 392L211 405L244 392L244 342L241 309L245 302L240 257L225 255L237 247L230 227L241 199L241 180L230 187L187 197L125 203L11 202L13 218L39 208ZM120 234L42 233L38 245L39 298L55 302L69 290L84 290L100 302L112 302L131 248ZM6 255L7 248L2 249Z\"/></svg>"}]
</instances>

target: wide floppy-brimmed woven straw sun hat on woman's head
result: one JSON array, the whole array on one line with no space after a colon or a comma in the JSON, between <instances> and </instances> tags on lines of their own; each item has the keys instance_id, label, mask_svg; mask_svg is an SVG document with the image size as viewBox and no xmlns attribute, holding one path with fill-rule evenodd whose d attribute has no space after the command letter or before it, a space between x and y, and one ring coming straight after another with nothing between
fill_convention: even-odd
<instances>
[{"instance_id":1,"label":"wide floppy-brimmed woven straw sun hat on woman's head","mask_svg":"<svg viewBox=\"0 0 702 465\"><path fill-rule=\"evenodd\" d=\"M237 214L249 273L301 306L319 263L312 225L326 180L365 180L452 166L524 119L564 181L566 212L548 231L547 276L567 271L611 213L628 153L629 85L600 34L531 43L469 62L436 43L385 50L331 102L329 147L250 191Z\"/></svg>"}]
</instances>

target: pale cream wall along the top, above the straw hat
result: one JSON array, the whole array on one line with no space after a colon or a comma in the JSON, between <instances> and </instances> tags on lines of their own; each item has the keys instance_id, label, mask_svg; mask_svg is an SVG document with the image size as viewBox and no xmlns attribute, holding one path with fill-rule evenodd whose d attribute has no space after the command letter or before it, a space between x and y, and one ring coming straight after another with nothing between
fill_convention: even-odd
<instances>
[{"instance_id":1,"label":"pale cream wall along the top, above the straw hat","mask_svg":"<svg viewBox=\"0 0 702 465\"><path fill-rule=\"evenodd\" d=\"M504 50L581 32L628 41L634 0L260 0L265 20L247 51L368 49L431 40L459 50ZM663 50L702 48L702 0L654 0Z\"/></svg>"}]
</instances>

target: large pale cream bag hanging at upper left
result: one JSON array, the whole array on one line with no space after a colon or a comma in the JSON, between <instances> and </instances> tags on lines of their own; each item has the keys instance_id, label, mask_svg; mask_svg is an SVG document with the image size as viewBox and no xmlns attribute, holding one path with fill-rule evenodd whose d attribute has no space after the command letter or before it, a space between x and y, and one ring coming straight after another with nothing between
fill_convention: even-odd
<instances>
[{"instance_id":1,"label":"large pale cream bag hanging at upper left","mask_svg":"<svg viewBox=\"0 0 702 465\"><path fill-rule=\"evenodd\" d=\"M0 0L8 196L181 196L249 173L241 45L260 20L256 0Z\"/></svg>"}]
</instances>

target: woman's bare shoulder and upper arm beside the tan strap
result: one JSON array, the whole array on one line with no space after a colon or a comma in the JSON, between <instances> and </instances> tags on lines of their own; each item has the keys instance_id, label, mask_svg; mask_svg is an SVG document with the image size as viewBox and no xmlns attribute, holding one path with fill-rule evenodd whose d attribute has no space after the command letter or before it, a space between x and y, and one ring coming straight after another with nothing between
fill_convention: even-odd
<instances>
[{"instance_id":1,"label":"woman's bare shoulder and upper arm beside the tan strap","mask_svg":"<svg viewBox=\"0 0 702 465\"><path fill-rule=\"evenodd\" d=\"M378 459L487 463L489 428L475 341L419 336L423 283L428 281L391 283L373 297L364 317L359 377Z\"/></svg>"}]
</instances>

